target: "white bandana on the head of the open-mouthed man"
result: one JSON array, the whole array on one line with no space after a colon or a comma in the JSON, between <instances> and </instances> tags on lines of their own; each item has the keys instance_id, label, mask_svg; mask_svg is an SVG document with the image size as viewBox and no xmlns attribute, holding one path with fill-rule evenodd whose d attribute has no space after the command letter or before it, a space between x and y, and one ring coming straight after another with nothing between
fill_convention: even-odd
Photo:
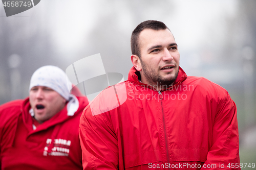
<instances>
[{"instance_id":1,"label":"white bandana on the head of the open-mouthed man","mask_svg":"<svg viewBox=\"0 0 256 170\"><path fill-rule=\"evenodd\" d=\"M31 77L29 91L35 86L49 87L69 101L67 105L69 116L73 116L77 111L79 102L73 94L70 94L72 83L62 69L52 65L38 68Z\"/></svg>"}]
</instances>

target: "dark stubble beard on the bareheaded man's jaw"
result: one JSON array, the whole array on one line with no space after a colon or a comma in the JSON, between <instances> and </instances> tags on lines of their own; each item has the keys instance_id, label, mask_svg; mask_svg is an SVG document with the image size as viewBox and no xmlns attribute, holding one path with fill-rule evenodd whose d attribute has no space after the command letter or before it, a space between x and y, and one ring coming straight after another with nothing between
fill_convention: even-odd
<instances>
[{"instance_id":1,"label":"dark stubble beard on the bareheaded man's jaw","mask_svg":"<svg viewBox=\"0 0 256 170\"><path fill-rule=\"evenodd\" d=\"M145 79L150 83L151 86L157 85L160 89L168 88L177 79L179 73L179 67L175 75L170 78L164 79L160 75L154 72L153 68L147 67L146 64L140 59L143 75ZM176 65L175 65L176 66ZM171 74L170 72L168 74Z\"/></svg>"}]
</instances>

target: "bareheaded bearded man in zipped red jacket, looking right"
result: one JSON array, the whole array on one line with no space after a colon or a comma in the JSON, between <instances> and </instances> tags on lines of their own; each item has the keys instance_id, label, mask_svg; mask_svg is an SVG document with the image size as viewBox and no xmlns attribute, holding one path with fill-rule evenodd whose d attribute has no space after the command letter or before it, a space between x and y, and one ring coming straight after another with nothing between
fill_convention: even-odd
<instances>
[{"instance_id":1,"label":"bareheaded bearded man in zipped red jacket, looking right","mask_svg":"<svg viewBox=\"0 0 256 170\"><path fill-rule=\"evenodd\" d=\"M173 34L147 20L132 33L128 80L84 109L84 169L240 169L237 109L228 92L179 67Z\"/></svg>"}]
</instances>

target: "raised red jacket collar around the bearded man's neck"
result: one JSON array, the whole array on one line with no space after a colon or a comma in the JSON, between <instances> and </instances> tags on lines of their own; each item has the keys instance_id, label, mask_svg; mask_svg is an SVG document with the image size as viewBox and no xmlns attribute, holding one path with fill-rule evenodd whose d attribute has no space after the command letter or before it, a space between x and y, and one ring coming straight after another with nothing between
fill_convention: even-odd
<instances>
[{"instance_id":1,"label":"raised red jacket collar around the bearded man's neck","mask_svg":"<svg viewBox=\"0 0 256 170\"><path fill-rule=\"evenodd\" d=\"M151 88L151 89L153 88L150 85L141 83L139 81L139 77L140 77L140 72L138 70L136 70L135 67L132 67L129 71L128 81L134 82L139 85L147 86L147 88ZM186 80L186 78L187 78L187 75L186 75L185 71L181 67L179 67L178 76L177 76L177 79L174 81L173 86L180 84L181 82ZM169 88L173 88L173 86L170 86ZM161 90L161 91L164 91L164 90Z\"/></svg>"}]
</instances>

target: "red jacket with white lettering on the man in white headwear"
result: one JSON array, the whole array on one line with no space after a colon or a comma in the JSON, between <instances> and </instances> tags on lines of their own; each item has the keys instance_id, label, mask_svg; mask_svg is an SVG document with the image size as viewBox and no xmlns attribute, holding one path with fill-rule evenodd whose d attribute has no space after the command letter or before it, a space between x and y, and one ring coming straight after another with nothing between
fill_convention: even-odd
<instances>
[{"instance_id":1,"label":"red jacket with white lettering on the man in white headwear","mask_svg":"<svg viewBox=\"0 0 256 170\"><path fill-rule=\"evenodd\" d=\"M82 169L79 119L88 105L78 98L73 116L67 107L35 130L29 114L29 99L0 107L0 169Z\"/></svg>"}]
</instances>

